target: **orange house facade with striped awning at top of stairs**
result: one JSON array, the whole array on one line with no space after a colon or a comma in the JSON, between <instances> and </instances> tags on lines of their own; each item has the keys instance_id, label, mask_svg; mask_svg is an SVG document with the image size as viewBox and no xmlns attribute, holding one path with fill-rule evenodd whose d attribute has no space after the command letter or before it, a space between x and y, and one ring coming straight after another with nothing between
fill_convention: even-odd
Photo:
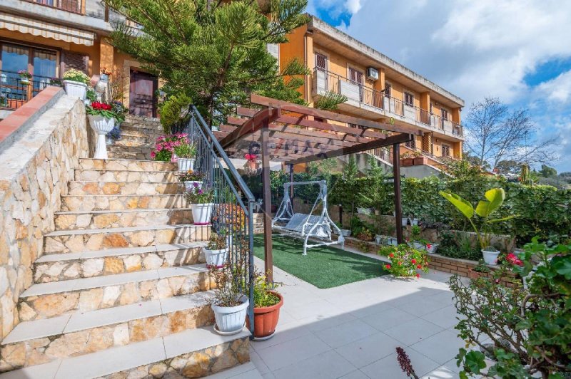
<instances>
[{"instance_id":1,"label":"orange house facade with striped awning at top of stairs","mask_svg":"<svg viewBox=\"0 0 571 379\"><path fill-rule=\"evenodd\" d=\"M156 116L157 78L106 41L116 21L99 0L0 1L0 111L19 108L71 68L92 85L105 68L131 113ZM29 85L18 71L31 74Z\"/></svg>"}]
</instances>

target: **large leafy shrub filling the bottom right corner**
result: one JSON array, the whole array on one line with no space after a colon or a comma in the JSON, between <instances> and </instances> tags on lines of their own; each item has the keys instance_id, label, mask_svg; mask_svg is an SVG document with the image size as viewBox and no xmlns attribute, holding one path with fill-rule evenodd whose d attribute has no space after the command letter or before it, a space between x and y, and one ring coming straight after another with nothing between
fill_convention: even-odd
<instances>
[{"instance_id":1,"label":"large leafy shrub filling the bottom right corner","mask_svg":"<svg viewBox=\"0 0 571 379\"><path fill-rule=\"evenodd\" d=\"M500 269L485 278L470 284L458 276L449 281L463 316L455 328L467 345L456 356L463 368L460 378L571 375L571 245L550 247L536 237L524 248L513 254L516 259L506 256ZM526 278L527 286L521 279L505 286L510 272ZM492 343L482 343L485 337ZM480 350L468 351L470 346Z\"/></svg>"}]
</instances>

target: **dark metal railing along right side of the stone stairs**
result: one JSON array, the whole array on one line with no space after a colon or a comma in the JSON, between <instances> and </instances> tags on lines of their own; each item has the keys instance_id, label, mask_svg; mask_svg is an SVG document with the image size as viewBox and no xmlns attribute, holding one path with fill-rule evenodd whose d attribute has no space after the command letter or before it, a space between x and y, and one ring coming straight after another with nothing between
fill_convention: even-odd
<instances>
[{"instance_id":1,"label":"dark metal railing along right side of the stone stairs","mask_svg":"<svg viewBox=\"0 0 571 379\"><path fill-rule=\"evenodd\" d=\"M203 189L214 192L213 228L228 237L228 256L234 279L243 294L250 298L248 317L253 332L253 217L256 198L194 106L191 106L190 115L185 133L197 149L194 168L205 175Z\"/></svg>"}]
</instances>

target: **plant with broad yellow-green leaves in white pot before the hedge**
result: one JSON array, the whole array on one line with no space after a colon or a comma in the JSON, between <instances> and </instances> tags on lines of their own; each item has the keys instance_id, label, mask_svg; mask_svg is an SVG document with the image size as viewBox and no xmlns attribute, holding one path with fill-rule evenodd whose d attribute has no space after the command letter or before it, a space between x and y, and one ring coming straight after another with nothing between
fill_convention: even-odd
<instances>
[{"instance_id":1,"label":"plant with broad yellow-green leaves in white pot before the hedge","mask_svg":"<svg viewBox=\"0 0 571 379\"><path fill-rule=\"evenodd\" d=\"M485 232L485 226L490 224L495 224L497 222L507 221L512 219L515 216L508 216L502 217L500 219L490 219L492 213L494 213L498 208L500 208L505 199L505 191L503 188L492 188L492 190L488 190L485 193L485 200L480 200L477 203L476 209L468 202L467 200L463 199L462 197L458 196L458 194L454 194L452 192L438 192L442 197L447 199L451 202L456 209L460 211L468 219L468 222L472 225L474 232L476 233L477 240L480 242L480 247L482 249L487 248L490 246L490 240L492 239L492 235L490 233ZM482 217L484 219L482 230L478 229L474 224L474 215Z\"/></svg>"}]
</instances>

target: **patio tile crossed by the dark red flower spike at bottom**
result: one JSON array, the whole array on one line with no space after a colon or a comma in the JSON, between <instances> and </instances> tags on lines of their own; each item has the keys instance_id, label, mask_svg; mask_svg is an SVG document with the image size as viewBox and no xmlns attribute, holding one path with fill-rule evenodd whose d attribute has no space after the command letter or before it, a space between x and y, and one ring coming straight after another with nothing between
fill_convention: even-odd
<instances>
[{"instance_id":1,"label":"patio tile crossed by the dark red flower spike at bottom","mask_svg":"<svg viewBox=\"0 0 571 379\"><path fill-rule=\"evenodd\" d=\"M419 377L429 373L439 366L438 363L418 353L418 351L407 348L405 348L405 351L410 358L410 363L413 364L415 373ZM365 375L371 379L408 379L408 376L403 373L403 370L401 370L400 366L398 365L396 353L388 355L383 359L377 360L370 365L360 368L360 370L363 371L363 373L365 373Z\"/></svg>"}]
</instances>

